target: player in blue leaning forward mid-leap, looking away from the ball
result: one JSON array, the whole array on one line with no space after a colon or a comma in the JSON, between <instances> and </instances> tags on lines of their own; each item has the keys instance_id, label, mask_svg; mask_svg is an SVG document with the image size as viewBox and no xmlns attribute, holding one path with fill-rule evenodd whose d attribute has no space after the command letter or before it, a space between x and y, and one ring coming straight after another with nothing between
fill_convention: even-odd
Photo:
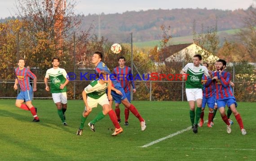
<instances>
[{"instance_id":1,"label":"player in blue leaning forward mid-leap, looking away from the ball","mask_svg":"<svg viewBox=\"0 0 256 161\"><path fill-rule=\"evenodd\" d=\"M95 68L96 74L99 75L99 73L101 71L106 71L110 74L110 79L112 81L112 87L113 87L111 90L112 97L114 98L115 101L121 101L123 103L123 105L125 107L127 107L132 112L132 114L134 114L135 117L137 117L139 119L139 121L141 123L141 131L144 131L146 129L145 120L141 117L141 114L138 112L137 108L128 101L128 99L124 93L124 89L122 88L121 84L119 83L119 80L114 76L114 74L112 74L110 72L110 70L106 66L106 64L102 62L102 57L103 57L103 54L100 51L95 51L93 54L92 63L96 67ZM110 107L112 107L112 103L113 103L113 100L110 100ZM113 110L110 110L110 112L111 111L113 111ZM109 112L109 115L112 113L112 112L111 113L110 112ZM111 119L111 117L112 117L112 114L110 116L110 119ZM116 118L116 115L113 117ZM113 120L112 120L112 122L113 122Z\"/></svg>"}]
</instances>

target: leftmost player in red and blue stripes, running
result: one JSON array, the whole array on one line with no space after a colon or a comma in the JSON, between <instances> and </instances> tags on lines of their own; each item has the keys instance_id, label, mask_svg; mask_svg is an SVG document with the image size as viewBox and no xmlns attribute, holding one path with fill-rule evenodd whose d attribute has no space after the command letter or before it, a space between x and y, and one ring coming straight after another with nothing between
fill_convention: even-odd
<instances>
[{"instance_id":1,"label":"leftmost player in red and blue stripes, running","mask_svg":"<svg viewBox=\"0 0 256 161\"><path fill-rule=\"evenodd\" d=\"M21 92L18 94L15 105L23 110L30 110L34 119L33 122L39 122L39 118L36 114L36 108L32 105L32 92L36 91L36 76L29 69L24 68L25 60L18 60L18 68L15 68L15 83L13 88L18 89L18 84L20 86ZM34 79L34 88L32 89L30 85L30 78ZM23 104L23 102L26 102Z\"/></svg>"}]
</instances>

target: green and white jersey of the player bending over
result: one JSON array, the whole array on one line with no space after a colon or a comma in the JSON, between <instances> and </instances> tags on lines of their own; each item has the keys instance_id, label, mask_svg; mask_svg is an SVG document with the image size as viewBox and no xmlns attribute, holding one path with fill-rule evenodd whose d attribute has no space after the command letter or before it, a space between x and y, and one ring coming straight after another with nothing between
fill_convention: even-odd
<instances>
[{"instance_id":1,"label":"green and white jersey of the player bending over","mask_svg":"<svg viewBox=\"0 0 256 161\"><path fill-rule=\"evenodd\" d=\"M93 80L87 87L84 88L85 93L87 93L88 97L93 99L98 99L103 94L106 93L108 83L100 84L97 80Z\"/></svg>"}]
</instances>

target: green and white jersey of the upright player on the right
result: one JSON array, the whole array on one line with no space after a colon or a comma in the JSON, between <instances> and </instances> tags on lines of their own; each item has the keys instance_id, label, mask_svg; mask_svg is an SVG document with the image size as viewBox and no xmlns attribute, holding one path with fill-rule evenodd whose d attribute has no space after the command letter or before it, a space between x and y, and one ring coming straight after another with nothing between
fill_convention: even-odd
<instances>
[{"instance_id":1,"label":"green and white jersey of the upright player on the right","mask_svg":"<svg viewBox=\"0 0 256 161\"><path fill-rule=\"evenodd\" d=\"M203 89L203 85L201 83L203 74L210 76L208 69L203 65L195 67L193 63L188 63L182 70L188 74L186 80L186 89Z\"/></svg>"}]
</instances>

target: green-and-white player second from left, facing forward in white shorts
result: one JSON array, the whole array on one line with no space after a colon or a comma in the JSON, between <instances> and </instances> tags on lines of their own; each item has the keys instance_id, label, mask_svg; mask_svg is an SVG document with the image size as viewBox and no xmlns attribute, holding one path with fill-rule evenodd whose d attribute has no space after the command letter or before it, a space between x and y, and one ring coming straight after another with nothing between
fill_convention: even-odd
<instances>
[{"instance_id":1,"label":"green-and-white player second from left, facing forward in white shorts","mask_svg":"<svg viewBox=\"0 0 256 161\"><path fill-rule=\"evenodd\" d=\"M59 58L53 58L52 64L53 68L48 69L44 77L45 90L52 93L53 102L57 106L57 112L62 120L62 124L67 126L65 116L67 108L66 85L69 80L66 70L59 68ZM50 88L48 86L48 79L50 80Z\"/></svg>"}]
</instances>

